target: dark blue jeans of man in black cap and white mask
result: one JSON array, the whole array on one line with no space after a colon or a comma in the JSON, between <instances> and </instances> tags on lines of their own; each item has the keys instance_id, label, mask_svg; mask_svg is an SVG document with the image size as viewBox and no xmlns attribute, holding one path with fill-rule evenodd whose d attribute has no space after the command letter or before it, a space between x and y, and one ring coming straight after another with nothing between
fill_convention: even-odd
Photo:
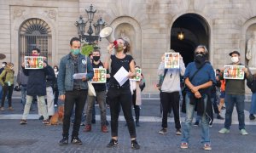
<instances>
[{"instance_id":1,"label":"dark blue jeans of man in black cap and white mask","mask_svg":"<svg viewBox=\"0 0 256 153\"><path fill-rule=\"evenodd\" d=\"M224 127L230 129L232 122L232 113L234 110L234 105L236 104L236 111L238 115L239 129L245 128L244 123L244 95L238 94L226 94L225 95L225 105L226 105L226 114Z\"/></svg>"}]
</instances>

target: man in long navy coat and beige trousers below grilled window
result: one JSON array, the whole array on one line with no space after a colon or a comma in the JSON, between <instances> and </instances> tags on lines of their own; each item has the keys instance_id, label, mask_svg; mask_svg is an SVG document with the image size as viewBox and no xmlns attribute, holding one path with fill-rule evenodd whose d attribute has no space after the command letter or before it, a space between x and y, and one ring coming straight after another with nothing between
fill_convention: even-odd
<instances>
[{"instance_id":1,"label":"man in long navy coat and beige trousers below grilled window","mask_svg":"<svg viewBox=\"0 0 256 153\"><path fill-rule=\"evenodd\" d=\"M40 54L40 49L32 49L32 56L38 56ZM41 107L42 114L44 116L43 124L49 123L49 116L46 111L45 99L46 95L46 76L49 75L49 65L44 62L43 69L25 69L25 63L22 63L22 71L26 76L28 76L28 82L26 85L26 105L24 107L24 112L20 124L26 124L26 117L29 114L30 107L32 104L33 96L38 96L38 105Z\"/></svg>"}]
</instances>

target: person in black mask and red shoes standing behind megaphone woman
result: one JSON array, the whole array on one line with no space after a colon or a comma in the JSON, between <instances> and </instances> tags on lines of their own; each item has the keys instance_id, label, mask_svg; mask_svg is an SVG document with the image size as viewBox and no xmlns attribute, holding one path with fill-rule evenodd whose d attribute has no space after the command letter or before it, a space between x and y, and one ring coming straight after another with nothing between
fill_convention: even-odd
<instances>
[{"instance_id":1,"label":"person in black mask and red shoes standing behind megaphone woman","mask_svg":"<svg viewBox=\"0 0 256 153\"><path fill-rule=\"evenodd\" d=\"M104 65L102 64L100 58L101 58L101 51L96 49L92 52L92 67L93 68L100 68L103 69ZM106 70L106 69L105 69ZM98 70L100 71L100 70ZM94 78L99 78L101 74L94 73ZM108 77L109 74L107 74ZM105 77L105 76L104 76ZM94 80L94 78L92 80ZM96 79L99 80L99 79ZM92 119L92 111L93 107L95 106L95 101L97 99L97 102L100 107L101 112L101 124L102 124L102 133L108 133L108 127L106 125L107 117L106 117L106 82L92 82L93 87L96 91L96 97L94 96L88 96L87 99L87 110L86 110L86 123L84 127L84 132L90 132L91 131L91 119Z\"/></svg>"}]
</instances>

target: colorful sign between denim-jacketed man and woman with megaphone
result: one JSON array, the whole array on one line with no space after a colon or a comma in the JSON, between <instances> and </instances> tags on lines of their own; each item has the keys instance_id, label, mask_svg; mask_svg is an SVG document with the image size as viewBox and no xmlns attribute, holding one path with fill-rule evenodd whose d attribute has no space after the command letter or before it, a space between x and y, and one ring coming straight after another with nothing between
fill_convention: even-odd
<instances>
[{"instance_id":1,"label":"colorful sign between denim-jacketed man and woman with megaphone","mask_svg":"<svg viewBox=\"0 0 256 153\"><path fill-rule=\"evenodd\" d=\"M93 68L94 77L91 79L92 83L106 83L107 82L107 70L104 68Z\"/></svg>"}]
</instances>

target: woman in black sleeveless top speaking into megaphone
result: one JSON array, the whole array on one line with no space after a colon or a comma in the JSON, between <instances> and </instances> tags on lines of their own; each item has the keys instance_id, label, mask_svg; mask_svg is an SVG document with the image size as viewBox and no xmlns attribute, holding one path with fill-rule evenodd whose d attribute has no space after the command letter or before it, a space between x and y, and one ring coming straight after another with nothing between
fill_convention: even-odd
<instances>
[{"instance_id":1,"label":"woman in black sleeveless top speaking into megaphone","mask_svg":"<svg viewBox=\"0 0 256 153\"><path fill-rule=\"evenodd\" d=\"M113 48L115 49L114 54ZM124 112L127 127L131 136L131 148L138 150L137 135L134 120L131 112L131 90L129 78L136 75L135 63L131 55L126 54L130 51L129 42L123 38L115 40L108 46L108 55L104 63L106 69L111 68L109 80L108 100L111 114L111 135L112 139L107 145L108 148L118 146L118 119L120 106ZM109 64L111 62L111 64ZM122 71L120 73L120 71ZM119 75L121 74L121 75ZM123 75L123 76L122 76ZM117 77L119 76L119 77ZM120 82L120 80L125 80Z\"/></svg>"}]
</instances>

